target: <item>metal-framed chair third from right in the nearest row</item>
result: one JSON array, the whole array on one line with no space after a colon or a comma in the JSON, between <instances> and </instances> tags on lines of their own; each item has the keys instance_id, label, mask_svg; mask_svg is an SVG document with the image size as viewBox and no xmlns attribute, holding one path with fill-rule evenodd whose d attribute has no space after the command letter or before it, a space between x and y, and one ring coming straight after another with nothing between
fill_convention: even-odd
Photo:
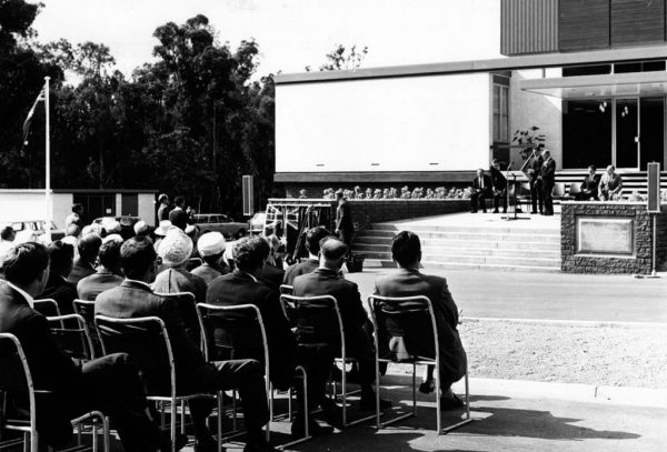
<instances>
[{"instance_id":1,"label":"metal-framed chair third from right in the nearest row","mask_svg":"<svg viewBox=\"0 0 667 452\"><path fill-rule=\"evenodd\" d=\"M248 315L248 313L251 313L250 315ZM259 308L257 308L255 304L237 304L233 307L221 307L221 305L215 305L215 304L207 304L207 303L197 303L197 317L199 318L199 324L201 328L201 332L202 332L202 342L203 342L203 355L205 359L207 361L215 361L213 359L211 359L211 346L216 348L216 346L220 346L220 348L229 348L231 351L231 355L233 356L233 332L228 331L223 324L221 324L223 321L222 319L225 319L225 317L232 314L235 317L235 319L229 319L232 321L251 321L251 322L257 322L257 325L259 328L260 331L260 335L261 335L261 344L262 344L262 354L263 354L263 364L265 364L265 381L266 381L266 391L267 394L270 394L269 398L269 413L270 413L270 419L273 419L273 398L272 398L272 392L273 392L273 388L272 384L270 382L270 365L269 365L269 343L268 343L268 339L267 339L267 332L266 332L266 328L265 328L265 323L263 323L263 319L261 317L261 312L259 311ZM241 318L241 315L245 315L245 318ZM216 319L212 320L212 319ZM212 324L215 323L215 324ZM215 343L215 334L213 331L211 329L222 329L225 330L231 339L231 343L230 344L216 344ZM246 330L247 331L247 330ZM213 342L211 344L211 342ZM243 356L239 356L239 358L243 358ZM309 418L309 413L308 413L308 375L306 373L306 369L303 369L303 366L301 365L297 365L296 366L296 371L298 371L299 373L301 373L302 376L302 381L303 381L303 403L305 403L305 436L300 438L298 440L288 442L286 444L281 444L280 446L278 446L277 449L283 449L283 448L289 448L291 445L295 444L299 444L302 443L305 441L308 441L311 439L309 432L308 432L308 418ZM219 394L218 400L222 400L221 394ZM236 400L236 398L235 398ZM236 406L235 406L236 409ZM220 412L221 406L218 406L218 410ZM290 394L290 408L289 408L289 412L290 412L290 419L291 419L291 394ZM236 418L235 418L236 419ZM267 423L266 425L266 438L267 441L270 439L270 434L271 434L271 429L270 429L270 423Z\"/></svg>"}]
</instances>

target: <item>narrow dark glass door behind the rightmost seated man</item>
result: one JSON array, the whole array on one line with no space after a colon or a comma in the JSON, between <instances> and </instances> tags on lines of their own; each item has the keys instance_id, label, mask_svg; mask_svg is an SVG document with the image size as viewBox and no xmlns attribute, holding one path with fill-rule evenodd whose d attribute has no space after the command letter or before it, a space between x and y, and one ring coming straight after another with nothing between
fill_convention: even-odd
<instances>
[{"instance_id":1,"label":"narrow dark glass door behind the rightmost seated man","mask_svg":"<svg viewBox=\"0 0 667 452\"><path fill-rule=\"evenodd\" d=\"M639 99L616 99L616 168L639 169Z\"/></svg>"}]
</instances>

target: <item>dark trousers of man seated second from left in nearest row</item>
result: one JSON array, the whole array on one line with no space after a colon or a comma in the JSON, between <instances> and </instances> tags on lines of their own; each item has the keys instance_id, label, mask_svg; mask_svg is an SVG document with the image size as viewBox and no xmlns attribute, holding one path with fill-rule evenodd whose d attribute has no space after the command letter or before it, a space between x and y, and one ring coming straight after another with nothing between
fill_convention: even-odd
<instances>
[{"instance_id":1,"label":"dark trousers of man seated second from left in nearest row","mask_svg":"<svg viewBox=\"0 0 667 452\"><path fill-rule=\"evenodd\" d=\"M243 421L250 441L261 440L261 428L269 421L263 368L256 360L212 361L198 369L186 371L177 378L179 392L239 391L243 409ZM208 400L189 402L192 424L197 438L210 435L206 418L213 406Z\"/></svg>"}]
</instances>

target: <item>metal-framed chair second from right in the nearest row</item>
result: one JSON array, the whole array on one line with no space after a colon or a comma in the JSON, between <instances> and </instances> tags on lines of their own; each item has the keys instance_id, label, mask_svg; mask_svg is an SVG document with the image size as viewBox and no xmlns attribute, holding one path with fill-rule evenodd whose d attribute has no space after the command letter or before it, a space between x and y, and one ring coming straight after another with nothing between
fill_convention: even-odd
<instances>
[{"instance_id":1,"label":"metal-framed chair second from right in the nearest row","mask_svg":"<svg viewBox=\"0 0 667 452\"><path fill-rule=\"evenodd\" d=\"M348 358L346 342L345 342L345 327L342 324L342 318L340 315L340 309L338 308L338 301L332 295L318 295L318 297L295 297L295 295L280 295L280 304L282 304L282 310L288 315L290 311L298 315L299 311L302 310L303 303L319 303L320 308L329 308L331 312L335 312L335 319L337 323L337 329L340 338L340 358L335 358L335 362L342 363L342 372L341 372L341 401L342 401L342 426L356 425L361 422L369 421L375 418L374 415L364 416L360 419L356 419L351 422L347 421L347 396L351 395L352 392L347 391L347 372L345 370L346 364L357 361L356 358ZM327 305L328 304L328 305ZM291 319L288 317L288 320ZM356 391L358 392L358 391ZM355 392L355 393L356 393ZM336 394L334 395L336 398Z\"/></svg>"}]
</instances>

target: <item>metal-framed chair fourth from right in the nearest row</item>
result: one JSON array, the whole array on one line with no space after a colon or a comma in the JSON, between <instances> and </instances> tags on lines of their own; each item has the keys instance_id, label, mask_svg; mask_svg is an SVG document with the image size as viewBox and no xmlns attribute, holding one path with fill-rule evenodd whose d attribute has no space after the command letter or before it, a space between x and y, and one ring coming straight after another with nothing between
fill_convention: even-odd
<instances>
[{"instance_id":1,"label":"metal-framed chair fourth from right in the nearest row","mask_svg":"<svg viewBox=\"0 0 667 452\"><path fill-rule=\"evenodd\" d=\"M147 362L145 360L150 360L152 366L157 365L162 369L169 368L169 395L151 394L151 390L156 389L148 388L147 399L156 402L170 403L171 419L169 423L169 430L171 438L171 451L176 452L176 424L179 404L181 408L181 433L185 434L186 402L197 398L205 398L207 396L207 394L193 393L187 395L177 395L176 363L173 359L173 352L171 350L171 341L169 340L169 333L167 332L167 327L165 325L165 322L158 317L116 319L106 315L96 315L94 327L98 331L98 335L102 345L102 352L104 355L110 352L126 352L132 356L135 362L137 362L139 368L142 369L147 375L151 375L151 371L153 371L153 369L147 366ZM150 358L142 356L141 352L137 353L137 346L150 346L150 339L155 340L158 335L161 338L160 340L158 340L158 342L161 342L163 345L161 353L160 350L152 350L153 353L150 355ZM115 339L121 337L123 337L123 343L113 343L116 342ZM131 345L129 345L129 343L127 342L127 340L130 338L133 339ZM148 352L148 350L146 350L146 352ZM160 363L160 359L166 362ZM152 374L152 376L156 378L157 375ZM220 432L218 431L218 434Z\"/></svg>"}]
</instances>

